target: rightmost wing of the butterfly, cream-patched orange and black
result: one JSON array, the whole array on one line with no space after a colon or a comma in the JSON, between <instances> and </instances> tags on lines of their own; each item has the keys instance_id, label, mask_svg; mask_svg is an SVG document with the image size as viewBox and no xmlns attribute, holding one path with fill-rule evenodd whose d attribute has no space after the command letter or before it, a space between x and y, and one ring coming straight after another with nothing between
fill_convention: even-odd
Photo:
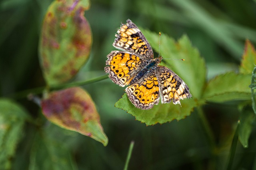
<instances>
[{"instance_id":1,"label":"rightmost wing of the butterfly, cream-patched orange and black","mask_svg":"<svg viewBox=\"0 0 256 170\"><path fill-rule=\"evenodd\" d=\"M161 103L180 104L180 99L191 98L186 83L172 70L165 66L158 66L156 69L158 83L161 93Z\"/></svg>"}]
</instances>

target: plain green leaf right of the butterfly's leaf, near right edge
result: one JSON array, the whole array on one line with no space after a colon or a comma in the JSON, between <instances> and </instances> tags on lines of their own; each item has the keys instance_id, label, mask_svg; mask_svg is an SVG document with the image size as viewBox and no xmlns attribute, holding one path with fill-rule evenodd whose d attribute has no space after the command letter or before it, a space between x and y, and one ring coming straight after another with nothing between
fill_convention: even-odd
<instances>
[{"instance_id":1,"label":"plain green leaf right of the butterfly's leaf, near right edge","mask_svg":"<svg viewBox=\"0 0 256 170\"><path fill-rule=\"evenodd\" d=\"M203 98L210 102L250 100L250 74L229 72L211 79L205 88Z\"/></svg>"}]
</instances>

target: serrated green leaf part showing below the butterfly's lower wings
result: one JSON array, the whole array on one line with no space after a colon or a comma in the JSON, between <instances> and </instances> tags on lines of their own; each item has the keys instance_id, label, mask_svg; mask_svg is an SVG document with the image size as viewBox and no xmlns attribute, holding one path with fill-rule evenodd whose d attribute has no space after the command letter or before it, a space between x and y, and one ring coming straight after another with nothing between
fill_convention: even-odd
<instances>
[{"instance_id":1,"label":"serrated green leaf part showing below the butterfly's lower wings","mask_svg":"<svg viewBox=\"0 0 256 170\"><path fill-rule=\"evenodd\" d=\"M157 123L163 124L166 122L171 122L172 120L181 120L189 116L193 111L193 108L196 107L196 102L192 99L185 99L180 101L179 104L174 105L172 103L168 104L158 104L155 105L150 110L140 110L136 108L128 99L127 95L124 94L115 106L117 108L122 108L128 113L135 116L136 120L139 120L146 125L154 125Z\"/></svg>"}]
</instances>

